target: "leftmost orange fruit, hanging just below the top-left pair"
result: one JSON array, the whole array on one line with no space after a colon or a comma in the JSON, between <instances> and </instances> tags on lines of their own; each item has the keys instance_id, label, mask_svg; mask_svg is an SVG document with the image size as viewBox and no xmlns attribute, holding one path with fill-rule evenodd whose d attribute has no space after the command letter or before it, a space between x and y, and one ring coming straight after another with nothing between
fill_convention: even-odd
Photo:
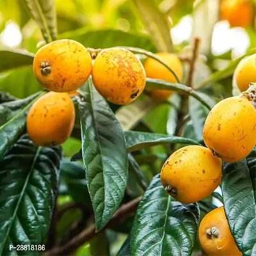
<instances>
[{"instance_id":1,"label":"leftmost orange fruit, hanging just below the top-left pair","mask_svg":"<svg viewBox=\"0 0 256 256\"><path fill-rule=\"evenodd\" d=\"M52 147L66 141L75 122L75 108L68 93L49 92L29 109L27 131L38 146Z\"/></svg>"}]
</instances>

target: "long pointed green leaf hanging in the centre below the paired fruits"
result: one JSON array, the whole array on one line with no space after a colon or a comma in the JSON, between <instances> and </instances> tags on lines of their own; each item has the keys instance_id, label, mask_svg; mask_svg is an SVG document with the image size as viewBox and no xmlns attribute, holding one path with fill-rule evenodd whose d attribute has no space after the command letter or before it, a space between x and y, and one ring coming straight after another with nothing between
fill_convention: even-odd
<instances>
[{"instance_id":1,"label":"long pointed green leaf hanging in the centre below the paired fruits","mask_svg":"<svg viewBox=\"0 0 256 256\"><path fill-rule=\"evenodd\" d=\"M88 191L95 212L96 230L102 229L118 209L128 178L124 132L108 102L95 90L92 80L79 91L83 161Z\"/></svg>"}]
</instances>

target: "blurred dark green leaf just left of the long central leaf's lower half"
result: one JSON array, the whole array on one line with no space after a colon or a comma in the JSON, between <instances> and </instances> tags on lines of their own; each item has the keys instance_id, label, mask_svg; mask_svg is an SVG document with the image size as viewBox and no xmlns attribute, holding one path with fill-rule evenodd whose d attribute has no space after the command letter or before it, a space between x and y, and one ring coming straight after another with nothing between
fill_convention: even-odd
<instances>
[{"instance_id":1,"label":"blurred dark green leaf just left of the long central leaf's lower half","mask_svg":"<svg viewBox=\"0 0 256 256\"><path fill-rule=\"evenodd\" d=\"M76 202L86 202L90 205L90 195L85 179L84 166L65 160L61 162L60 173L68 187L68 194L72 196L73 200Z\"/></svg>"}]
</instances>

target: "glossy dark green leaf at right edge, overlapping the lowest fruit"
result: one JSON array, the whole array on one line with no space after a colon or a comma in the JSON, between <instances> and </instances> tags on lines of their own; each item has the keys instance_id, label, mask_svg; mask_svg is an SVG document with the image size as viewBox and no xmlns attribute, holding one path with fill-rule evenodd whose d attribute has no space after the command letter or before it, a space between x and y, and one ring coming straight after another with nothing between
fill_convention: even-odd
<instances>
[{"instance_id":1,"label":"glossy dark green leaf at right edge, overlapping the lowest fruit","mask_svg":"<svg viewBox=\"0 0 256 256\"><path fill-rule=\"evenodd\" d=\"M243 121L242 121L243 122ZM243 255L256 253L256 149L239 163L226 163L222 192L230 231Z\"/></svg>"}]
</instances>

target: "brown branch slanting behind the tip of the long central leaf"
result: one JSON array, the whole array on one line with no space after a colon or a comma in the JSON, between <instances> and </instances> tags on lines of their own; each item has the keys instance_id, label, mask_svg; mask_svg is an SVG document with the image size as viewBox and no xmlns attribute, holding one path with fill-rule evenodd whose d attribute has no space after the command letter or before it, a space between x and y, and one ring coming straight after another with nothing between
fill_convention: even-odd
<instances>
[{"instance_id":1,"label":"brown branch slanting behind the tip of the long central leaf","mask_svg":"<svg viewBox=\"0 0 256 256\"><path fill-rule=\"evenodd\" d=\"M109 220L109 223L102 230L115 226L127 218L127 216L129 216L132 212L136 211L140 200L141 197L138 197L127 204L123 204L115 212L115 214ZM100 230L100 232L102 232L102 230ZM71 255L71 253L74 252L79 246L92 239L95 235L97 235L97 233L95 233L95 225L91 225L90 227L83 230L80 234L73 237L67 244L61 247L53 248L51 251L46 252L45 256Z\"/></svg>"}]
</instances>

